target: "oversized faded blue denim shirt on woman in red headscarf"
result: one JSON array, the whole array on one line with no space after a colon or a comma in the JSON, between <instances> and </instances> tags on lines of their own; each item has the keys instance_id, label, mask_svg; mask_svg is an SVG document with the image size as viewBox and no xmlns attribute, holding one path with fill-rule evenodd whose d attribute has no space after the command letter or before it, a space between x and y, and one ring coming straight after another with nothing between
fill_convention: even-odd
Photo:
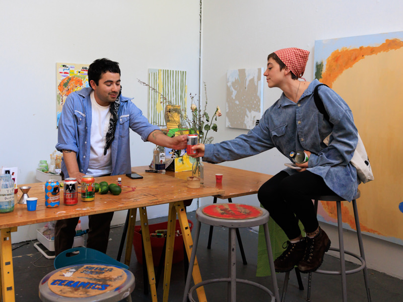
<instances>
[{"instance_id":1,"label":"oversized faded blue denim shirt on woman in red headscarf","mask_svg":"<svg viewBox=\"0 0 403 302\"><path fill-rule=\"evenodd\" d=\"M314 80L297 103L284 93L268 108L260 122L247 134L216 144L206 144L204 160L211 163L234 161L276 147L291 162L290 152L308 150L308 169L321 176L336 194L352 200L357 193L358 179L350 163L357 146L358 132L353 114L346 102L333 90L322 86L318 92L329 114L333 128L319 113L313 99ZM323 139L330 134L328 146ZM287 168L289 174L298 173Z\"/></svg>"}]
</instances>

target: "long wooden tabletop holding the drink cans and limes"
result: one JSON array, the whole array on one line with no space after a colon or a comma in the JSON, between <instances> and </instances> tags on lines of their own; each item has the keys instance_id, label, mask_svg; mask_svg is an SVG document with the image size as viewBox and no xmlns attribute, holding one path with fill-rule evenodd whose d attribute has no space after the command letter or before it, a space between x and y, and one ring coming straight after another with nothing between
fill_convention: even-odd
<instances>
[{"instance_id":1,"label":"long wooden tabletop holding the drink cans and limes","mask_svg":"<svg viewBox=\"0 0 403 302\"><path fill-rule=\"evenodd\" d=\"M36 211L28 211L26 204L18 203L22 196L21 190L18 190L14 211L0 213L0 229L224 194L222 189L215 186L189 189L183 179L168 174L146 173L144 170L138 169L138 167L133 168L133 171L144 177L143 179L129 179L125 175L97 177L96 182L106 181L109 184L117 184L117 178L121 177L122 192L120 195L115 196L110 192L104 195L95 193L94 201L83 202L79 194L79 202L73 206L63 204L63 188L60 190L60 206L46 208L45 183L20 185L19 187L31 187L28 192L29 197L38 197Z\"/></svg>"}]
</instances>

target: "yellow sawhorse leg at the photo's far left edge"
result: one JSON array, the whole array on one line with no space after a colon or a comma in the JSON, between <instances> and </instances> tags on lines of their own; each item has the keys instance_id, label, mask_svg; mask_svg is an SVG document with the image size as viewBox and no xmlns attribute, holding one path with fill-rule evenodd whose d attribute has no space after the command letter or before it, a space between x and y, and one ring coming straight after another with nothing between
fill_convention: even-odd
<instances>
[{"instance_id":1,"label":"yellow sawhorse leg at the photo's far left edge","mask_svg":"<svg viewBox=\"0 0 403 302\"><path fill-rule=\"evenodd\" d=\"M17 226L0 230L0 301L3 302L15 301L11 232L17 232Z\"/></svg>"}]
</instances>

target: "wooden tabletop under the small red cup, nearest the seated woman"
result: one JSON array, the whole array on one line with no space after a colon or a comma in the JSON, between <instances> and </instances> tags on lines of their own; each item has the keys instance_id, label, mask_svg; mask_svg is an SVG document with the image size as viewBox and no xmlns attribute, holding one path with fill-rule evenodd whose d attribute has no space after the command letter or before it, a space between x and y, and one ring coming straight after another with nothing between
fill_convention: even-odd
<instances>
[{"instance_id":1,"label":"wooden tabletop under the small red cup, nearest the seated woman","mask_svg":"<svg viewBox=\"0 0 403 302\"><path fill-rule=\"evenodd\" d=\"M256 194L261 185L272 177L272 175L264 173L236 169L222 165L214 165L209 163L203 164L205 166L204 185L215 187L217 189L223 189L225 191L224 193L215 195L221 199ZM133 169L135 168L132 168L132 170ZM139 171L144 172L144 169ZM167 171L167 174L180 179L186 179L187 176L190 176L191 172L174 173L173 171ZM223 181L221 184L216 183L216 174L223 175Z\"/></svg>"}]
</instances>

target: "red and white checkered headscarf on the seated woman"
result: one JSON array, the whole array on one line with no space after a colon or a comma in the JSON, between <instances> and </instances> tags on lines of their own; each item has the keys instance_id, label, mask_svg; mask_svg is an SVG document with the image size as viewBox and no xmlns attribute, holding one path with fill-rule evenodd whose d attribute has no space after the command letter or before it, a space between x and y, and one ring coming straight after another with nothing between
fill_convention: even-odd
<instances>
[{"instance_id":1,"label":"red and white checkered headscarf on the seated woman","mask_svg":"<svg viewBox=\"0 0 403 302\"><path fill-rule=\"evenodd\" d=\"M284 64L301 79L308 61L309 51L301 48L283 48L274 52ZM305 79L304 79L305 80ZM306 81L306 80L305 80Z\"/></svg>"}]
</instances>

